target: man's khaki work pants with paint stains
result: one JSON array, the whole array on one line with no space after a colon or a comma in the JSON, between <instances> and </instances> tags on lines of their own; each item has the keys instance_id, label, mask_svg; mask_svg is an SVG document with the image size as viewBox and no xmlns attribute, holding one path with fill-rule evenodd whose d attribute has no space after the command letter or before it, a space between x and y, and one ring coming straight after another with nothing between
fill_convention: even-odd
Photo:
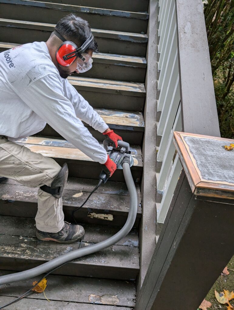
<instances>
[{"instance_id":1,"label":"man's khaki work pants with paint stains","mask_svg":"<svg viewBox=\"0 0 234 310\"><path fill-rule=\"evenodd\" d=\"M61 167L52 158L34 153L29 148L0 136L0 176L36 188L50 186L60 170ZM35 221L36 228L41 231L61 230L64 223L62 198L55 198L39 188Z\"/></svg>"}]
</instances>

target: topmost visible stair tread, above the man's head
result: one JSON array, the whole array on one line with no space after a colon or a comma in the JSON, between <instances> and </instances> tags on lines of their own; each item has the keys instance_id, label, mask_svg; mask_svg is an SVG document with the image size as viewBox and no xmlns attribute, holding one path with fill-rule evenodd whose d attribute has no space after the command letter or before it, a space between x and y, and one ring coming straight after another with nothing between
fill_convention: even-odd
<instances>
[{"instance_id":1,"label":"topmost visible stair tread, above the man's head","mask_svg":"<svg viewBox=\"0 0 234 310\"><path fill-rule=\"evenodd\" d=\"M71 5L71 4L63 4L63 3L55 3L55 2L42 2L42 1L32 1L32 0L1 0L1 3L12 3L18 5L27 5L27 6L35 6L35 7L46 7L46 8L53 8L59 10L66 10L66 11L76 11L80 13L89 13L89 14L101 14L101 15L112 15L112 16L119 16L119 17L126 17L126 18L138 18L138 19L149 19L148 13L142 12L129 12L129 11L118 11L118 10L111 10L111 9L103 9L103 8L96 8L96 7L83 7L78 5Z\"/></svg>"}]
</instances>

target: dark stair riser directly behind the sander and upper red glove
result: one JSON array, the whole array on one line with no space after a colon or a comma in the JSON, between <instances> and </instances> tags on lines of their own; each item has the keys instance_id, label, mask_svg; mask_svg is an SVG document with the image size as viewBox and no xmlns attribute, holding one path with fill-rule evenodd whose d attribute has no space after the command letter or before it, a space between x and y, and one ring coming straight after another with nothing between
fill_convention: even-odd
<instances>
[{"instance_id":1,"label":"dark stair riser directly behind the sander and upper red glove","mask_svg":"<svg viewBox=\"0 0 234 310\"><path fill-rule=\"evenodd\" d=\"M111 129L114 130L114 132L117 135L120 135L122 139L126 142L128 142L131 145L141 145L141 141L143 138L144 131L138 131L136 128L135 130L126 130L125 126L119 126L119 125L113 125L108 124ZM104 136L99 131L94 130L92 127L87 127L89 132L96 138L98 141L103 141ZM37 135L42 136L50 136L50 137L61 137L51 126L48 124L45 126L45 128L40 131Z\"/></svg>"}]
</instances>

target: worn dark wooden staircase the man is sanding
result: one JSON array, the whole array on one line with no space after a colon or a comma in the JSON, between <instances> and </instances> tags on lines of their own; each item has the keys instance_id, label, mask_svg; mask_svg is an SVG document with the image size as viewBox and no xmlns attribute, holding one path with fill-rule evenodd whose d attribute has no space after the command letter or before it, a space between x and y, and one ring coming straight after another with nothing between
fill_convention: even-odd
<instances>
[{"instance_id":1,"label":"worn dark wooden staircase the man is sanding","mask_svg":"<svg viewBox=\"0 0 234 310\"><path fill-rule=\"evenodd\" d=\"M54 0L55 1L55 0ZM69 82L103 117L108 126L131 144L134 165L131 168L138 193L138 211L134 228L116 245L85 256L57 269L48 276L43 294L28 298L6 309L97 309L126 310L135 304L135 280L139 274L138 232L141 221L140 179L143 170L141 144L144 135L145 73L149 0L0 0L0 51L14 46L46 41L56 22L73 12L89 21L99 45L93 56L93 68L74 74ZM97 6L94 8L93 6ZM87 6L87 7L86 7ZM85 124L102 143L104 136ZM69 177L63 194L65 219L80 206L97 184L101 171L71 143L46 125L43 131L18 141L32 151L67 162ZM125 223L129 197L122 170L117 170L105 185L90 197L76 213L85 227L84 245L112 236ZM0 184L0 275L25 270L58 255L77 249L39 241L35 237L37 189L8 179ZM39 277L0 288L0 306L28 290Z\"/></svg>"}]
</instances>

